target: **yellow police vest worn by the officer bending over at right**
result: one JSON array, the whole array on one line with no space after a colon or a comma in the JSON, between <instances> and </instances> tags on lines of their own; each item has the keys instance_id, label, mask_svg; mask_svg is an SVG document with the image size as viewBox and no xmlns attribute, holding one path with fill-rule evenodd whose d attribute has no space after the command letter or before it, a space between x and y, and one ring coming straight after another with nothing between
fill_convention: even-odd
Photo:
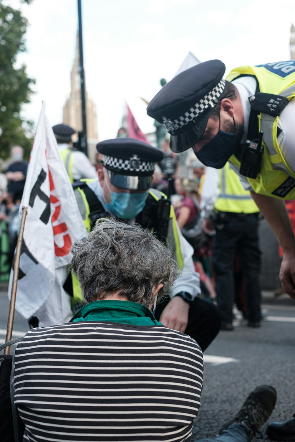
<instances>
[{"instance_id":1,"label":"yellow police vest worn by the officer bending over at right","mask_svg":"<svg viewBox=\"0 0 295 442\"><path fill-rule=\"evenodd\" d=\"M233 81L239 76L249 75L258 81L260 92L281 95L289 101L295 96L295 61L241 66L233 69L226 80ZM276 103L272 101L269 106L275 107ZM279 116L272 117L261 112L258 120L259 131L264 132L261 171L256 179L248 178L248 181L258 194L278 199L295 199L295 173L284 160L277 142ZM238 167L241 165L240 160L234 155L229 161Z\"/></svg>"}]
</instances>

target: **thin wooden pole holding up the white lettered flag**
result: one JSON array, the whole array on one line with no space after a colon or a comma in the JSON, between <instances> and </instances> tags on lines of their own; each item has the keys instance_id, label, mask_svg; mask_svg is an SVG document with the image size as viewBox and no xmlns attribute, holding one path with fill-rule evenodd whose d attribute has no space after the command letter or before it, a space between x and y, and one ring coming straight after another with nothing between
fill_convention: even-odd
<instances>
[{"instance_id":1,"label":"thin wooden pole holding up the white lettered flag","mask_svg":"<svg viewBox=\"0 0 295 442\"><path fill-rule=\"evenodd\" d=\"M12 287L11 287L11 297L10 297L10 305L9 305L5 342L11 341L11 337L12 337L13 320L14 320L14 312L15 312L16 289L17 289L17 282L19 279L19 260L20 260L20 255L21 255L21 251L22 251L23 230L25 227L27 211L28 211L27 207L23 207L22 219L20 221L20 228L19 228L19 236L17 238L16 250L15 250L15 258L14 258L14 266L13 266L13 280L12 280ZM10 346L5 347L4 354L9 354L9 353L10 353Z\"/></svg>"}]
</instances>

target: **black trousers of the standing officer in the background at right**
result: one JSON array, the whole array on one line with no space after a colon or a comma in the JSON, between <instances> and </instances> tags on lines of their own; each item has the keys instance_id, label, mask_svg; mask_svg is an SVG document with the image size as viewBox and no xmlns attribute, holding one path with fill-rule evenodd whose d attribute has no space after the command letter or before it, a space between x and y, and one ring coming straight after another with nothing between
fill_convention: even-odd
<instances>
[{"instance_id":1,"label":"black trousers of the standing officer in the background at right","mask_svg":"<svg viewBox=\"0 0 295 442\"><path fill-rule=\"evenodd\" d=\"M219 229L218 229L219 227ZM245 278L248 318L261 319L258 221L255 214L230 214L223 224L217 224L213 239L213 269L216 279L217 306L222 322L231 323L234 303L234 257L238 253Z\"/></svg>"}]
</instances>

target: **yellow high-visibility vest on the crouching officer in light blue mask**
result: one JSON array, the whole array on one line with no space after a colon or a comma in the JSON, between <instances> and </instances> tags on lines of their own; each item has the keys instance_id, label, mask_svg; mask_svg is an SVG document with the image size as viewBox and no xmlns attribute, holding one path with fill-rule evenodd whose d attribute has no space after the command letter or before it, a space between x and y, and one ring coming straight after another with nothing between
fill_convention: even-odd
<instances>
[{"instance_id":1,"label":"yellow high-visibility vest on the crouching officer in light blue mask","mask_svg":"<svg viewBox=\"0 0 295 442\"><path fill-rule=\"evenodd\" d=\"M80 181L85 182L86 184L91 183L92 181L95 181L94 179L81 179ZM88 231L92 229L92 223L89 218L90 208L89 203L86 198L86 194L83 190L83 188L75 187L74 190L77 204L80 210L80 214L83 218L84 225ZM159 201L161 198L167 199L167 196L163 194L162 192L156 190L156 189L149 189L149 195L153 197L156 201ZM153 228L151 229L151 232L153 232ZM167 246L172 251L172 258L175 259L180 267L180 270L184 267L184 259L180 248L180 238L178 234L177 229L177 221L174 209L171 205L170 207L170 216L169 216L169 229L168 229L168 235L166 238ZM82 301L82 292L80 289L80 284L77 279L76 275L72 275L72 282L73 282L73 300L74 301Z\"/></svg>"}]
</instances>

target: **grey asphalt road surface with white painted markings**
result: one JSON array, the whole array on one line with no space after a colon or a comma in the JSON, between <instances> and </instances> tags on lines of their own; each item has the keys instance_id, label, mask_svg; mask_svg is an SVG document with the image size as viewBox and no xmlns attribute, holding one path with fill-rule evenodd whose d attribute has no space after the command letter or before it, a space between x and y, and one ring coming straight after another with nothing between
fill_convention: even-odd
<instances>
[{"instance_id":1,"label":"grey asphalt road surface with white painted markings","mask_svg":"<svg viewBox=\"0 0 295 442\"><path fill-rule=\"evenodd\" d=\"M5 341L9 309L5 289L0 286L1 343ZM261 328L247 327L237 312L234 331L221 331L205 351L204 388L192 441L214 438L258 385L273 385L278 394L269 422L288 419L295 412L295 301L287 295L274 297L264 292L262 307L265 319ZM15 312L13 337L27 330L27 321ZM263 440L269 441L265 427Z\"/></svg>"}]
</instances>

